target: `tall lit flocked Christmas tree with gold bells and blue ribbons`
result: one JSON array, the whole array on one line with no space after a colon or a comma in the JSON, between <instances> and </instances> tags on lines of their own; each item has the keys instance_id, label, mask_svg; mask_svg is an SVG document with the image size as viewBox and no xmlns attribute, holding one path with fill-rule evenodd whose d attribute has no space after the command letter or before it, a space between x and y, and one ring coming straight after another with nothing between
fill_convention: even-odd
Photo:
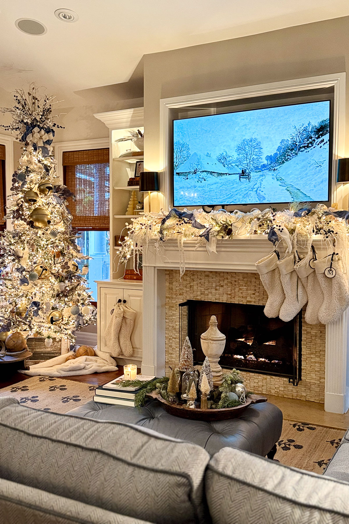
<instances>
[{"instance_id":1,"label":"tall lit flocked Christmas tree with gold bells and blue ribbons","mask_svg":"<svg viewBox=\"0 0 349 524\"><path fill-rule=\"evenodd\" d=\"M87 280L91 257L80 253L67 197L52 155L53 98L15 91L13 108L1 108L13 121L2 126L23 144L12 179L5 219L13 229L0 234L0 331L26 332L75 342L75 330L95 322Z\"/></svg>"}]
</instances>

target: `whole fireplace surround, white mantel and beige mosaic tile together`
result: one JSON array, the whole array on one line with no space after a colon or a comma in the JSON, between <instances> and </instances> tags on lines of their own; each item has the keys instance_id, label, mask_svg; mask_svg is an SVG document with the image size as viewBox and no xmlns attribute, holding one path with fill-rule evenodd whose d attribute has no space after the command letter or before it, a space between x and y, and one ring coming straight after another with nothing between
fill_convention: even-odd
<instances>
[{"instance_id":1,"label":"whole fireplace surround, white mantel and beige mosaic tile together","mask_svg":"<svg viewBox=\"0 0 349 524\"><path fill-rule=\"evenodd\" d=\"M325 251L315 240L319 254ZM266 303L267 294L255 270L255 262L271 251L265 236L218 241L217 254L205 246L185 242L186 271L179 274L175 240L156 247L151 241L143 254L143 361L142 373L161 376L178 362L178 304L188 299L242 304ZM322 256L323 256L322 255ZM303 313L304 316L304 313ZM302 321L302 374L298 386L287 378L241 372L248 389L261 394L324 402L324 409L343 413L348 409L347 311L324 326ZM349 385L349 380L348 380Z\"/></svg>"}]
</instances>

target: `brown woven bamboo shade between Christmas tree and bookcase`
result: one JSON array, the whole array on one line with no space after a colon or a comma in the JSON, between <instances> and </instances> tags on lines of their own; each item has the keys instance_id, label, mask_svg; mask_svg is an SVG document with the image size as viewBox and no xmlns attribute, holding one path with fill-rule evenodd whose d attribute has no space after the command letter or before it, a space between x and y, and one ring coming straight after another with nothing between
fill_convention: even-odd
<instances>
[{"instance_id":1,"label":"brown woven bamboo shade between Christmas tree and bookcase","mask_svg":"<svg viewBox=\"0 0 349 524\"><path fill-rule=\"evenodd\" d=\"M109 149L63 152L63 166L73 226L109 230Z\"/></svg>"}]
</instances>

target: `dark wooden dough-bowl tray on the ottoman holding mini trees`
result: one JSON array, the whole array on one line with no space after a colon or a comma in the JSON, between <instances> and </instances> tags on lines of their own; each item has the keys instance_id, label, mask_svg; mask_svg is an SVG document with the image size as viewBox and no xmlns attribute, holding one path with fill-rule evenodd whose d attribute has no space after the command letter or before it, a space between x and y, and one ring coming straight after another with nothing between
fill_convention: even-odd
<instances>
[{"instance_id":1,"label":"dark wooden dough-bowl tray on the ottoman holding mini trees","mask_svg":"<svg viewBox=\"0 0 349 524\"><path fill-rule=\"evenodd\" d=\"M158 393L152 391L147 394L147 397L159 400L162 403L162 407L167 413L174 415L175 417L181 417L182 419L190 420L204 420L206 422L213 422L215 420L226 420L239 417L241 413L252 404L260 402L266 402L268 399L264 395L247 395L246 403L236 406L235 408L223 408L223 409L192 409L187 408L185 405L180 406L178 404L171 404L166 402Z\"/></svg>"}]
</instances>

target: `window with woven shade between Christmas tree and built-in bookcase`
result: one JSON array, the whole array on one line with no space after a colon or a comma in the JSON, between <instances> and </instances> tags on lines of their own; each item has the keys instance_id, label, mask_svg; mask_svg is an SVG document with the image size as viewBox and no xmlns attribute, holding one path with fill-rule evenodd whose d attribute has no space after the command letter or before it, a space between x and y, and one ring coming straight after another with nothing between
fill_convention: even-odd
<instances>
[{"instance_id":1,"label":"window with woven shade between Christmas tree and built-in bookcase","mask_svg":"<svg viewBox=\"0 0 349 524\"><path fill-rule=\"evenodd\" d=\"M94 280L109 278L109 149L63 152L64 183L75 194L69 199L72 225L81 232L77 243L93 260L86 276L97 301Z\"/></svg>"}]
</instances>

